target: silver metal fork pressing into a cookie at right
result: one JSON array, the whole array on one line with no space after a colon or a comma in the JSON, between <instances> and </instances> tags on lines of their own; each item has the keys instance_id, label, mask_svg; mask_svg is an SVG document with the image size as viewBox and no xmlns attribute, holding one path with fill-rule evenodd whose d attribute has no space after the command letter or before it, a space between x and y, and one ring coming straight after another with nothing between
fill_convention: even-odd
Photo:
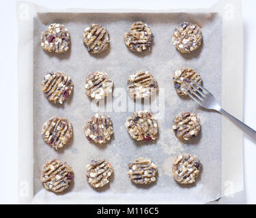
<instances>
[{"instance_id":1,"label":"silver metal fork pressing into a cookie at right","mask_svg":"<svg viewBox=\"0 0 256 218\"><path fill-rule=\"evenodd\" d=\"M200 84L193 80L190 80L190 83L186 82L185 88L182 90L185 91L189 95L189 97L191 97L201 107L211 110L217 110L218 112L226 116L230 121L235 123L238 127L240 127L240 129L242 129L242 131L244 131L244 133L246 133L248 136L253 138L253 140L256 140L256 131L251 127L248 127L248 125L244 124L242 121L236 119L236 117L223 110L223 108L221 108L221 106L216 101L214 95L212 95L212 93L203 88Z\"/></svg>"}]
</instances>

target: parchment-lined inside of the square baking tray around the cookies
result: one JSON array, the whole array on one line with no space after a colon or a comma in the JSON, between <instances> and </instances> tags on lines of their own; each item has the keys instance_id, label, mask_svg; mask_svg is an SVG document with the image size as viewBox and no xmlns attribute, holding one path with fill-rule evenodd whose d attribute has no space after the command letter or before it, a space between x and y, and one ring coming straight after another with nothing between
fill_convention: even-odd
<instances>
[{"instance_id":1,"label":"parchment-lined inside of the square baking tray around the cookies","mask_svg":"<svg viewBox=\"0 0 256 218\"><path fill-rule=\"evenodd\" d=\"M38 7L40 8L40 7ZM154 33L154 46L145 55L130 52L124 44L124 32L132 22L143 20ZM171 34L184 22L197 23L203 32L201 48L182 55L171 44ZM71 34L71 49L65 55L49 55L40 48L40 34L52 22L63 23ZM83 29L91 23L104 25L110 34L111 46L102 55L89 55L83 46ZM173 87L172 76L179 67L193 67L201 74L203 85L223 102L223 14L221 12L38 12L33 16L33 202L65 203L203 203L220 198L223 194L223 121L220 114L203 110L190 99L182 99ZM113 120L114 138L106 146L96 146L87 141L83 133L85 122L96 112L97 105L85 95L85 79L91 72L104 71L113 79L115 89L112 102L126 99L138 110L140 102L132 102L126 90L126 80L138 70L152 72L160 92L152 103L160 104L158 115L159 139L152 143L134 142L125 129L125 121L133 110L103 112ZM69 74L74 91L64 106L48 102L41 91L44 72L59 71ZM160 103L164 99L163 104ZM110 103L109 103L110 104ZM128 107L128 106L127 106ZM143 108L144 106L142 106ZM147 107L147 104L146 106ZM102 110L102 106L99 106ZM104 106L103 106L104 109ZM174 116L183 110L199 114L201 135L183 144L171 130ZM102 112L100 112L102 113ZM51 116L64 116L72 122L74 137L65 149L54 151L42 140L42 125ZM240 144L241 146L241 144ZM203 170L195 185L178 185L171 173L173 159L181 153L197 155ZM109 186L93 189L85 178L85 166L91 159L106 158L113 165L114 178ZM158 166L154 185L137 186L129 180L127 164L137 157L149 157ZM57 158L67 161L74 170L74 183L64 194L46 191L40 183L44 162ZM225 157L227 158L227 156ZM240 160L237 159L239 163ZM23 185L24 186L24 185ZM30 186L29 186L30 187ZM23 187L24 188L24 187ZM235 189L233 192L236 191ZM27 196L26 196L27 197ZM23 197L24 198L24 197Z\"/></svg>"}]
</instances>

